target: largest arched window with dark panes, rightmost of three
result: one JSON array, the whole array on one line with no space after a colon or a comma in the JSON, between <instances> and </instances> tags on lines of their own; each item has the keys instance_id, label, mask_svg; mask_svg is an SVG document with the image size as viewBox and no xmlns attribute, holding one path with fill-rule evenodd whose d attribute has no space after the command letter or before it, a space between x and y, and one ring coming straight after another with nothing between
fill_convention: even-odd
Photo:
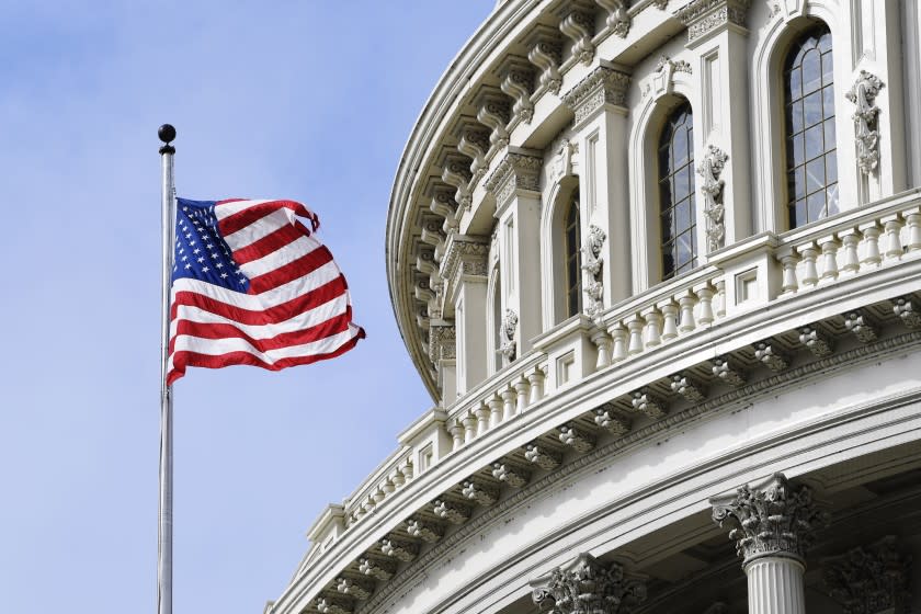
<instances>
[{"instance_id":1,"label":"largest arched window with dark panes, rightmost of three","mask_svg":"<svg viewBox=\"0 0 921 614\"><path fill-rule=\"evenodd\" d=\"M796 228L838 213L831 32L797 38L784 62L787 208Z\"/></svg>"}]
</instances>

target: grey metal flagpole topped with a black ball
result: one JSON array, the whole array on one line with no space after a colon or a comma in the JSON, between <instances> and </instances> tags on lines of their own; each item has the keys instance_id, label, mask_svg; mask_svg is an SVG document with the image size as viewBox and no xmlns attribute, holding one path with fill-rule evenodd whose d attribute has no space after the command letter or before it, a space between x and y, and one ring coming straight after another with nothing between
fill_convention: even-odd
<instances>
[{"instance_id":1,"label":"grey metal flagpole topped with a black ball","mask_svg":"<svg viewBox=\"0 0 921 614\"><path fill-rule=\"evenodd\" d=\"M173 225L175 224L175 185L173 182L173 155L170 143L175 128L163 124L157 132L162 163L162 311L160 318L160 504L157 534L157 614L172 614L172 386L167 385L167 362L170 343L170 286L173 261Z\"/></svg>"}]
</instances>

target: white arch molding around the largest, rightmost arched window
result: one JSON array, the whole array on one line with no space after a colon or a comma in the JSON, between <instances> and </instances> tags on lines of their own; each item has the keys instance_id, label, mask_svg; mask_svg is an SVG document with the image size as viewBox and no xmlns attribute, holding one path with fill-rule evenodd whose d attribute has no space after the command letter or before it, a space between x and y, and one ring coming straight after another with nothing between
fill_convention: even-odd
<instances>
[{"instance_id":1,"label":"white arch molding around the largest, rightmost arched window","mask_svg":"<svg viewBox=\"0 0 921 614\"><path fill-rule=\"evenodd\" d=\"M770 18L758 33L752 64L754 70L749 82L752 104L752 134L769 135L769 138L752 139L752 175L755 191L753 202L754 231L783 232L789 229L787 214L787 164L784 139L784 62L792 46L804 32L823 22L831 32L832 59L834 61L834 126L838 134L838 183L841 194L857 194L857 175L851 172L856 157L851 112L844 100L850 87L851 57L850 31L841 25L839 13L842 8L830 0L797 0L796 7L782 10ZM846 8L845 8L846 11ZM765 95L766 93L766 95ZM855 198L841 198L841 211L859 206Z\"/></svg>"}]
</instances>

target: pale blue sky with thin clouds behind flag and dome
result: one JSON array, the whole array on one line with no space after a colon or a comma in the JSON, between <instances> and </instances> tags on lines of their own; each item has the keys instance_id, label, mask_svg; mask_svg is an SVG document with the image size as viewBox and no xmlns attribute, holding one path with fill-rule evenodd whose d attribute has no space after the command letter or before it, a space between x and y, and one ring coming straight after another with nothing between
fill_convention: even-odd
<instances>
[{"instance_id":1,"label":"pale blue sky with thin clouds behind flag and dome","mask_svg":"<svg viewBox=\"0 0 921 614\"><path fill-rule=\"evenodd\" d=\"M493 0L0 1L0 612L155 612L159 156L179 194L320 215L368 339L175 386L174 611L261 614L306 528L431 405L384 225L422 105Z\"/></svg>"}]
</instances>

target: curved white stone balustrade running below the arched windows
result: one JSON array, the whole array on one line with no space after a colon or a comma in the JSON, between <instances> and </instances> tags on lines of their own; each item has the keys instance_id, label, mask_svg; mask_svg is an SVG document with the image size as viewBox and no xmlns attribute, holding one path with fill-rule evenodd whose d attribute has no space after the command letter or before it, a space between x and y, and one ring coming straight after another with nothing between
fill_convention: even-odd
<instances>
[{"instance_id":1,"label":"curved white stone balustrade running below the arched windows","mask_svg":"<svg viewBox=\"0 0 921 614\"><path fill-rule=\"evenodd\" d=\"M594 319L571 318L453 406L431 410L400 435L401 447L345 500L336 534L387 505L419 473L500 424L526 420L531 409L590 375L622 368L736 316L919 257L921 192L913 191L783 235L751 237ZM322 537L330 531L319 526L311 533Z\"/></svg>"}]
</instances>

